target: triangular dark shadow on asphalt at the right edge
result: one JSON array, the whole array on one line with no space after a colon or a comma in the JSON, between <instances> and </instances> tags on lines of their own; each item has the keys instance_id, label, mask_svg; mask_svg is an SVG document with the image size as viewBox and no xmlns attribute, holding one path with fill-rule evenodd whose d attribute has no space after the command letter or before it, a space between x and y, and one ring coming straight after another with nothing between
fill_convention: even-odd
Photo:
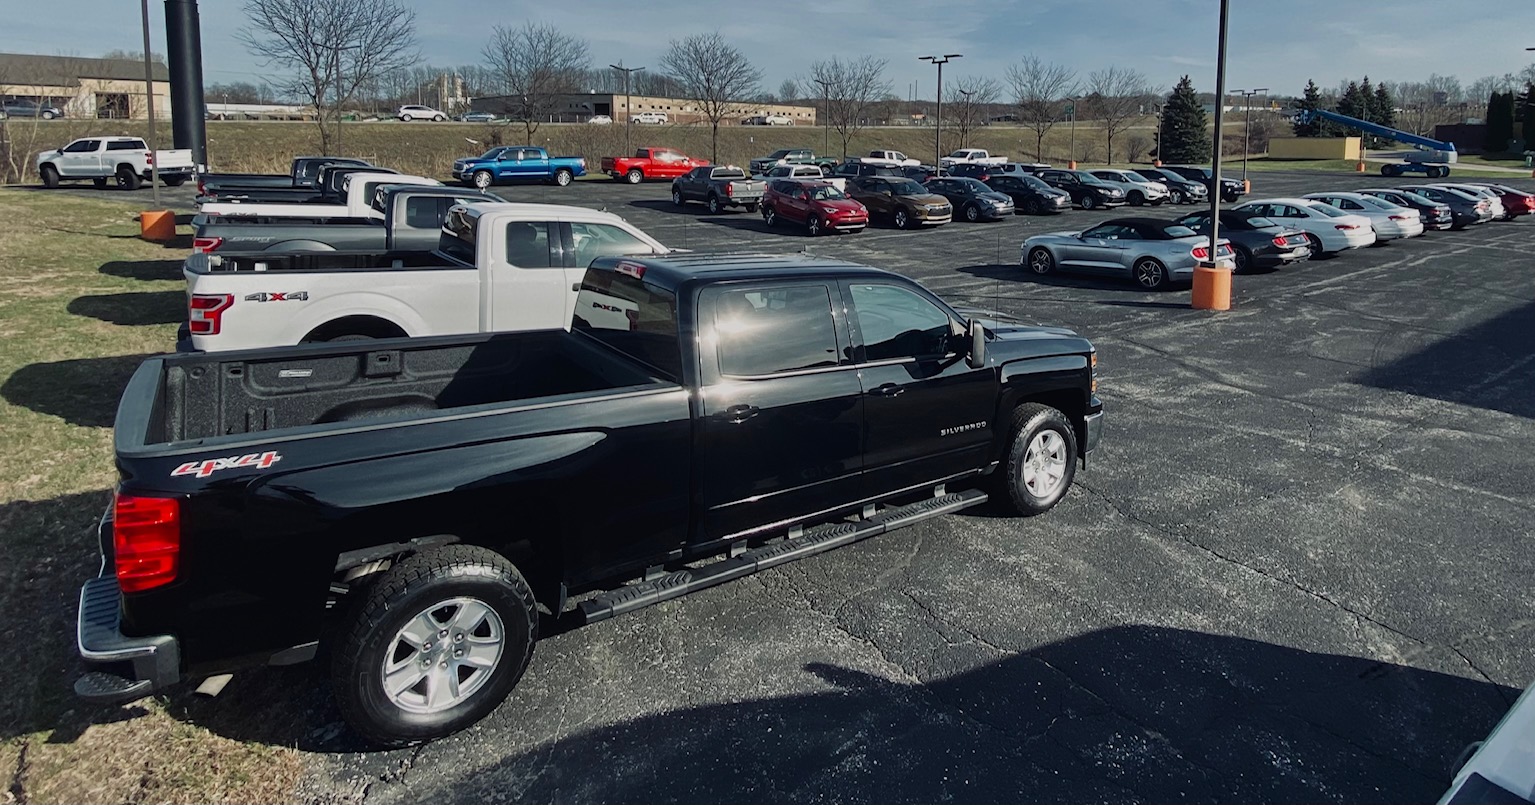
<instances>
[{"instance_id":1,"label":"triangular dark shadow on asphalt at the right edge","mask_svg":"<svg viewBox=\"0 0 1535 805\"><path fill-rule=\"evenodd\" d=\"M1374 366L1358 383L1535 418L1532 333L1535 303Z\"/></svg>"}]
</instances>

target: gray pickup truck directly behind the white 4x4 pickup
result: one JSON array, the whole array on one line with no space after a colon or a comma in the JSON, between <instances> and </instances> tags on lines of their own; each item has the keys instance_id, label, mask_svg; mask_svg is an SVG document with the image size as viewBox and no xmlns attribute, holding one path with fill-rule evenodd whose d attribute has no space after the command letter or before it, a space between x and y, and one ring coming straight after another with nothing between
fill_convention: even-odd
<instances>
[{"instance_id":1,"label":"gray pickup truck directly behind the white 4x4 pickup","mask_svg":"<svg viewBox=\"0 0 1535 805\"><path fill-rule=\"evenodd\" d=\"M433 184L381 184L371 206L378 218L275 218L266 215L198 215L196 250L226 252L430 252L453 204L500 201L484 190Z\"/></svg>"}]
</instances>

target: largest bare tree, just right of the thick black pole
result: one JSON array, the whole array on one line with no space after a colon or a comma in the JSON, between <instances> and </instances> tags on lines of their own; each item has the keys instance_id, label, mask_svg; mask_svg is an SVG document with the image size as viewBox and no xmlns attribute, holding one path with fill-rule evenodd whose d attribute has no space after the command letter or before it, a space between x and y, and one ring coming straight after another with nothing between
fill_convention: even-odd
<instances>
[{"instance_id":1,"label":"largest bare tree, just right of the thick black pole","mask_svg":"<svg viewBox=\"0 0 1535 805\"><path fill-rule=\"evenodd\" d=\"M341 109L358 89L419 58L416 12L394 0L246 0L246 17L239 40L266 65L293 74L279 86L315 104L324 154L339 151Z\"/></svg>"}]
</instances>

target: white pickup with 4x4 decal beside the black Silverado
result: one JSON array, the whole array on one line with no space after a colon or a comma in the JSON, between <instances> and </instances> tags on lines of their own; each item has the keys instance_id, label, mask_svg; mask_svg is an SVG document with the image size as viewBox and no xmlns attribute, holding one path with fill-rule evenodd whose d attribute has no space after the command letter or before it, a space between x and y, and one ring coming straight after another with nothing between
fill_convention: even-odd
<instances>
[{"instance_id":1,"label":"white pickup with 4x4 decal beside the black Silverado","mask_svg":"<svg viewBox=\"0 0 1535 805\"><path fill-rule=\"evenodd\" d=\"M569 329L593 260L663 253L611 212L523 203L451 207L436 252L193 253L178 347Z\"/></svg>"}]
</instances>

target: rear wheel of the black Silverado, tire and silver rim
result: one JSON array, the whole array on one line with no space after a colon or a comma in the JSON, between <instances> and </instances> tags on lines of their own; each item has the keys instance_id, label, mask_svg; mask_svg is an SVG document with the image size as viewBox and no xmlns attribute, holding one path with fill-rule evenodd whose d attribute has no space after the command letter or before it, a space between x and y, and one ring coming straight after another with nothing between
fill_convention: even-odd
<instances>
[{"instance_id":1,"label":"rear wheel of the black Silverado, tire and silver rim","mask_svg":"<svg viewBox=\"0 0 1535 805\"><path fill-rule=\"evenodd\" d=\"M485 717L516 687L539 638L527 579L499 553L471 545L396 564L348 621L332 661L332 690L347 724L382 747L431 740ZM457 662L465 653L479 662ZM421 676L408 684L414 673ZM459 688L465 684L467 693ZM444 701L433 702L439 691Z\"/></svg>"}]
</instances>

